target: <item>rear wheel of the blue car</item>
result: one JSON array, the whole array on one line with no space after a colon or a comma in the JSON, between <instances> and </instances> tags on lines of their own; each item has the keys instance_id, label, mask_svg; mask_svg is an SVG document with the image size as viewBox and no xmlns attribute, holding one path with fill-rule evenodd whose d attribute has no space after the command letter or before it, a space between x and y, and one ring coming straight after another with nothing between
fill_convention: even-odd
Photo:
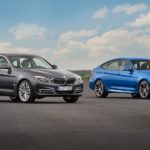
<instances>
[{"instance_id":1,"label":"rear wheel of the blue car","mask_svg":"<svg viewBox=\"0 0 150 150\"><path fill-rule=\"evenodd\" d=\"M96 81L94 91L98 98L105 98L108 96L108 92L105 91L105 85L101 80Z\"/></svg>"}]
</instances>

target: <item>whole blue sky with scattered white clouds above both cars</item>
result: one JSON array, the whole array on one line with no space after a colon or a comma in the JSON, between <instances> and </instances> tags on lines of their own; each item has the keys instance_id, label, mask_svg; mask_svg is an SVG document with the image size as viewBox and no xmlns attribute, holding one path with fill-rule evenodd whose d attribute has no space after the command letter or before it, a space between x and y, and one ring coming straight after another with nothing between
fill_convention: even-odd
<instances>
[{"instance_id":1,"label":"whole blue sky with scattered white clouds above both cars","mask_svg":"<svg viewBox=\"0 0 150 150\"><path fill-rule=\"evenodd\" d=\"M0 0L0 53L40 55L75 70L150 57L150 1Z\"/></svg>"}]
</instances>

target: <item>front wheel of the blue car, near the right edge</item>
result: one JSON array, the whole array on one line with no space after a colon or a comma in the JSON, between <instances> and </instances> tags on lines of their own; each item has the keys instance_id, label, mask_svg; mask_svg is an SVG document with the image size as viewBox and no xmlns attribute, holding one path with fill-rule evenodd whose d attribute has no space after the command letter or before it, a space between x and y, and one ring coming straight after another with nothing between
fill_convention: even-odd
<instances>
[{"instance_id":1,"label":"front wheel of the blue car, near the right edge","mask_svg":"<svg viewBox=\"0 0 150 150\"><path fill-rule=\"evenodd\" d=\"M149 98L150 95L150 86L146 80L143 80L139 84L139 94L142 99Z\"/></svg>"}]
</instances>

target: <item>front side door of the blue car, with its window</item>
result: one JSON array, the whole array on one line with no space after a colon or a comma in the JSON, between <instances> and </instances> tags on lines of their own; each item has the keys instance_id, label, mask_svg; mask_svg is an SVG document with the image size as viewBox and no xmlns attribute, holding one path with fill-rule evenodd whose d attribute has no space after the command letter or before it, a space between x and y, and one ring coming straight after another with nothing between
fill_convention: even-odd
<instances>
[{"instance_id":1,"label":"front side door of the blue car, with its window","mask_svg":"<svg viewBox=\"0 0 150 150\"><path fill-rule=\"evenodd\" d=\"M134 92L137 86L137 77L130 62L124 59L120 60L118 69L120 70L118 89Z\"/></svg>"}]
</instances>

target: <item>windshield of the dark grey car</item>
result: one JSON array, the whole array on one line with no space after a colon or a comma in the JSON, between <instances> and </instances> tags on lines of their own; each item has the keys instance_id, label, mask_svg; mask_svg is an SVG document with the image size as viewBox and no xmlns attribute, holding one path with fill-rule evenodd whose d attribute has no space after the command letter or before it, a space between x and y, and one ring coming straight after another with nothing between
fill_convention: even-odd
<instances>
[{"instance_id":1,"label":"windshield of the dark grey car","mask_svg":"<svg viewBox=\"0 0 150 150\"><path fill-rule=\"evenodd\" d=\"M52 66L41 57L11 56L10 61L15 68L52 69Z\"/></svg>"}]
</instances>

